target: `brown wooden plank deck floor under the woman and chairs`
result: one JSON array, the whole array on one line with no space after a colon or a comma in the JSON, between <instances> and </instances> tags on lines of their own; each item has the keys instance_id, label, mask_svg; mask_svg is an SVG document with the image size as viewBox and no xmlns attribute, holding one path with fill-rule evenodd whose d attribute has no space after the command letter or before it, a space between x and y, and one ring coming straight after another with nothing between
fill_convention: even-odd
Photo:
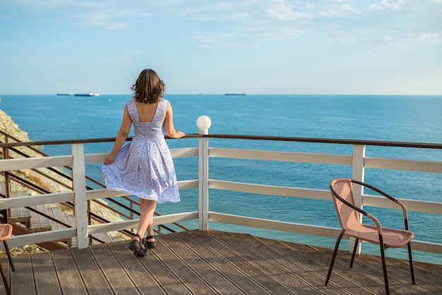
<instances>
[{"instance_id":1,"label":"brown wooden plank deck floor under the woman and chairs","mask_svg":"<svg viewBox=\"0 0 442 295\"><path fill-rule=\"evenodd\" d=\"M12 294L385 294L381 260L242 233L190 231L161 235L145 258L129 241L13 258ZM442 294L442 266L387 258L390 294ZM0 281L0 294L6 294Z\"/></svg>"}]
</instances>

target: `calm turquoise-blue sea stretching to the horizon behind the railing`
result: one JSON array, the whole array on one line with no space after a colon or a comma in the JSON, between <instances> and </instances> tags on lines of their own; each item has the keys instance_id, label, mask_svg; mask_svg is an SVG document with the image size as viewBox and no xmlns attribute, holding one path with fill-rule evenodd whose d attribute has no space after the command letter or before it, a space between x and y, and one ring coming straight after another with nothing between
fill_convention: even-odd
<instances>
[{"instance_id":1,"label":"calm turquoise-blue sea stretching to the horizon behind the railing","mask_svg":"<svg viewBox=\"0 0 442 295\"><path fill-rule=\"evenodd\" d=\"M51 95L0 95L0 109L32 141L96 139L115 137L124 104L131 94L92 97ZM174 113L174 127L186 134L198 133L196 120L210 117L210 134L264 135L327 139L442 144L442 96L362 96L362 95L249 95L167 94ZM131 134L133 129L131 131ZM171 149L198 146L198 139L168 139ZM209 139L209 146L232 149L302 151L324 154L352 154L352 146L305 142ZM106 153L112 142L85 144L86 153ZM71 146L48 145L42 151L51 156L69 154ZM442 150L367 146L366 156L442 161ZM174 159L178 180L198 178L196 158ZM86 173L102 181L101 165L89 164ZM442 172L442 171L441 171ZM209 178L216 180L307 187L328 190L333 178L351 178L351 168L314 163L286 163L241 159L210 158ZM419 173L370 169L365 181L393 197L442 202L442 173ZM93 184L90 184L93 187ZM198 190L180 192L181 202L157 206L160 214L198 209ZM210 189L209 210L275 219L299 224L339 228L333 202L313 199L251 195ZM401 212L364 207L383 226L403 226ZM442 243L442 212L409 212L415 239ZM364 220L365 221L365 220ZM185 226L196 229L196 221ZM333 248L334 238L268 231L251 227L210 223L210 229L238 231L283 241ZM378 245L365 244L364 253L378 255ZM342 241L342 249L348 242ZM386 255L407 258L403 249L388 249ZM413 251L414 260L441 265L442 255Z\"/></svg>"}]
</instances>

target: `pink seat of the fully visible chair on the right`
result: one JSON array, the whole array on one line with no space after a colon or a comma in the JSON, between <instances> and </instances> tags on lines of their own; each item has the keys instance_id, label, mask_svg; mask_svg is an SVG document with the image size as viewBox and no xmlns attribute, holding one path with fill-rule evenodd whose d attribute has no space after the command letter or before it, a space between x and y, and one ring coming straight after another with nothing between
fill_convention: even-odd
<instances>
[{"instance_id":1,"label":"pink seat of the fully visible chair on the right","mask_svg":"<svg viewBox=\"0 0 442 295\"><path fill-rule=\"evenodd\" d=\"M354 238L363 239L371 243L379 244L378 229L371 224L359 224L357 228L346 229L345 236L352 236ZM409 243L414 234L405 229L390 229L388 227L382 228L383 244L388 248L401 248Z\"/></svg>"}]
</instances>

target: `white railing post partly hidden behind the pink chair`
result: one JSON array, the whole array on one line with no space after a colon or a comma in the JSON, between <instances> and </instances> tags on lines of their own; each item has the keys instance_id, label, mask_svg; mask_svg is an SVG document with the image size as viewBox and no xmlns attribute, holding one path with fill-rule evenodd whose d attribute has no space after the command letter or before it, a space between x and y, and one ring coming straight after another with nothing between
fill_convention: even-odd
<instances>
[{"instance_id":1,"label":"white railing post partly hidden behind the pink chair","mask_svg":"<svg viewBox=\"0 0 442 295\"><path fill-rule=\"evenodd\" d=\"M364 182L364 157L365 157L365 146L364 145L354 145L353 146L353 163L352 163L352 178L354 180L359 180ZM362 209L362 195L364 194L364 187L362 185L357 185L353 187L354 199L356 201L356 206ZM359 220L362 221L362 214L359 213ZM355 238L350 238L350 252L354 248ZM361 254L361 244L358 243L356 253Z\"/></svg>"}]
</instances>

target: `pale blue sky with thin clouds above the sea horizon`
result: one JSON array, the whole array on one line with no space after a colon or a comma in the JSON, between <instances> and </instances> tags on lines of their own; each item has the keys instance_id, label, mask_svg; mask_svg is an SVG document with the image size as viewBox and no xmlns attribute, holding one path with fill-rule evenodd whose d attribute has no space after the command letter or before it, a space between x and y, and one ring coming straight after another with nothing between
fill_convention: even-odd
<instances>
[{"instance_id":1,"label":"pale blue sky with thin clouds above the sea horizon","mask_svg":"<svg viewBox=\"0 0 442 295\"><path fill-rule=\"evenodd\" d=\"M0 95L442 94L442 0L0 0Z\"/></svg>"}]
</instances>

